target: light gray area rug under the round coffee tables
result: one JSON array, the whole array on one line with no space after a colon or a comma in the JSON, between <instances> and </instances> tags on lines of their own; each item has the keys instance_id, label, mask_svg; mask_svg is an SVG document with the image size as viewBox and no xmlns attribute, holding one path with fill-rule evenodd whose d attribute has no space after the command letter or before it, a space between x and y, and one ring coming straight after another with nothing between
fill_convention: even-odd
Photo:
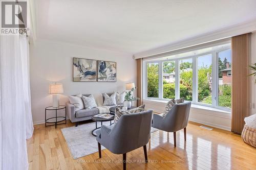
<instances>
[{"instance_id":1,"label":"light gray area rug under the round coffee tables","mask_svg":"<svg viewBox=\"0 0 256 170\"><path fill-rule=\"evenodd\" d=\"M109 125L109 122L103 122L103 125ZM100 126L100 123L98 123ZM74 159L87 156L98 152L98 143L96 137L92 135L95 123L79 125L78 127L62 128L61 132L67 142L69 151ZM152 128L151 133L158 131ZM101 150L105 148L101 146Z\"/></svg>"}]
</instances>

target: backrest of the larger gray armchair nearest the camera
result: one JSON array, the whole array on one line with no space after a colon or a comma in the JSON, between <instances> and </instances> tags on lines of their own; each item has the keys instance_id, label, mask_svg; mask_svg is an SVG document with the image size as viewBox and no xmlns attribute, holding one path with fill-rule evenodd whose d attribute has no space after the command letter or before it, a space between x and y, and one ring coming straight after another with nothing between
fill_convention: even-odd
<instances>
[{"instance_id":1,"label":"backrest of the larger gray armchair nearest the camera","mask_svg":"<svg viewBox=\"0 0 256 170\"><path fill-rule=\"evenodd\" d=\"M123 114L110 132L108 148L115 154L122 154L142 147L150 138L152 110Z\"/></svg>"}]
</instances>

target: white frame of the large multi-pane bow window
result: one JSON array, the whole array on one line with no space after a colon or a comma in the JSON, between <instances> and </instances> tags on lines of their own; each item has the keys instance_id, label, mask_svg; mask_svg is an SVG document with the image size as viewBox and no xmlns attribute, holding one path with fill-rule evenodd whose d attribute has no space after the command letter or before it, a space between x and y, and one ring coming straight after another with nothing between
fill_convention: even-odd
<instances>
[{"instance_id":1,"label":"white frame of the large multi-pane bow window","mask_svg":"<svg viewBox=\"0 0 256 170\"><path fill-rule=\"evenodd\" d=\"M202 48L203 49L203 48ZM202 53L198 55L190 55L187 57L181 57L181 58L176 58L176 59L167 59L167 60L155 60L155 61L150 61L146 60L143 63L143 66L145 66L144 72L145 72L145 86L143 90L143 98L146 100L163 100L163 101L169 101L169 99L164 99L163 98L163 62L168 62L168 61L175 61L175 99L180 98L180 60L184 59L192 59L192 69L193 69L193 92L192 92L192 104L196 105L201 105L201 106L206 106L206 107L212 107L212 108L217 108L220 110L224 111L231 111L231 108L226 108L222 106L218 106L218 85L219 85L219 70L218 70L218 54L222 51L226 51L231 49L231 46L222 48L221 50L214 50L211 52L207 53ZM182 53L182 52L181 52ZM211 76L212 76L212 101L211 104L205 104L198 102L198 57L203 57L206 55L211 55L211 64L212 64L212 69L211 69ZM158 63L158 98L149 98L147 97L147 64L148 63ZM144 74L143 74L144 76Z\"/></svg>"}]
</instances>

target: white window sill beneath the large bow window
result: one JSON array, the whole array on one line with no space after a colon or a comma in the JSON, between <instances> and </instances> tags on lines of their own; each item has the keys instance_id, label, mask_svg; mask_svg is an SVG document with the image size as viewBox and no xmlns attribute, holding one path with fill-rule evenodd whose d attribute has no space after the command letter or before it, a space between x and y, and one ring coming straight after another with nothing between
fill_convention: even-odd
<instances>
[{"instance_id":1,"label":"white window sill beneath the large bow window","mask_svg":"<svg viewBox=\"0 0 256 170\"><path fill-rule=\"evenodd\" d=\"M164 103L166 104L168 101L166 100L152 100L152 99L143 99L143 102L147 103L151 103L151 102L158 102L158 103ZM202 105L197 105L197 104L191 104L191 108L196 108L196 109L203 109L203 110L210 110L210 111L216 111L216 112L220 112L220 113L225 113L225 114L230 114L231 112L229 111L225 111L225 110L221 110L221 109L217 109L214 107L208 107L208 106L202 106Z\"/></svg>"}]
</instances>

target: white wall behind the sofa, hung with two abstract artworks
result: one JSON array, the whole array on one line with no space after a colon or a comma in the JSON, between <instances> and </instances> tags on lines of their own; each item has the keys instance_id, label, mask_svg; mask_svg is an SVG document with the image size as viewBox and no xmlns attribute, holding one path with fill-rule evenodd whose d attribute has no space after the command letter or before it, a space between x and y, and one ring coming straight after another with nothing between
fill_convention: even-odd
<instances>
[{"instance_id":1,"label":"white wall behind the sofa, hung with two abstract artworks","mask_svg":"<svg viewBox=\"0 0 256 170\"><path fill-rule=\"evenodd\" d=\"M117 62L117 82L73 82L73 57ZM136 83L136 62L130 54L37 41L36 45L30 45L30 82L33 122L39 124L45 122L45 107L52 105L52 95L48 94L50 83L63 84L60 104L68 101L66 95L124 90L125 83Z\"/></svg>"}]
</instances>

